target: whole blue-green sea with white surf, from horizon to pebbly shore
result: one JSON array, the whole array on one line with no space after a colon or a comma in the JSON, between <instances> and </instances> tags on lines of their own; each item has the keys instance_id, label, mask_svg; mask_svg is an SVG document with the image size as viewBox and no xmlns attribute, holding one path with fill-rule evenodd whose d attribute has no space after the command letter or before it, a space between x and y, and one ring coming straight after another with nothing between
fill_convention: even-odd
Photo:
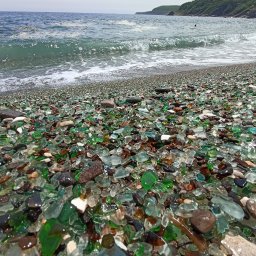
<instances>
[{"instance_id":1,"label":"whole blue-green sea with white surf, from horizon to pebbly shore","mask_svg":"<svg viewBox=\"0 0 256 256\"><path fill-rule=\"evenodd\" d=\"M0 12L0 93L255 61L254 19Z\"/></svg>"}]
</instances>

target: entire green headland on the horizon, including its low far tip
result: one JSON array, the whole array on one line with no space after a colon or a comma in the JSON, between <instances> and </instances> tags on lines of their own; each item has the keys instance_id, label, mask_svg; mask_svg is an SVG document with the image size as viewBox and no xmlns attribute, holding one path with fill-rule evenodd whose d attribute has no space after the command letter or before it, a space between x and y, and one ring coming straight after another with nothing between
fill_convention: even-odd
<instances>
[{"instance_id":1,"label":"entire green headland on the horizon, including its low far tip","mask_svg":"<svg viewBox=\"0 0 256 256\"><path fill-rule=\"evenodd\" d=\"M194 0L180 6L163 5L152 11L137 12L136 14L256 18L256 1Z\"/></svg>"}]
</instances>

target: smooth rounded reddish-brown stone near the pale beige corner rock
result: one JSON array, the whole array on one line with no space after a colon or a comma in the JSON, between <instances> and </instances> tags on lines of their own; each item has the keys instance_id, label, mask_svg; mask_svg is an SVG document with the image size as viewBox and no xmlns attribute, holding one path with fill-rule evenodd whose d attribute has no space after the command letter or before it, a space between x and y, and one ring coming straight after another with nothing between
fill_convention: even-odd
<instances>
[{"instance_id":1,"label":"smooth rounded reddish-brown stone near the pale beige corner rock","mask_svg":"<svg viewBox=\"0 0 256 256\"><path fill-rule=\"evenodd\" d=\"M212 230L216 222L216 218L208 210L197 210L193 212L190 221L196 230L200 231L201 233L207 233Z\"/></svg>"}]
</instances>

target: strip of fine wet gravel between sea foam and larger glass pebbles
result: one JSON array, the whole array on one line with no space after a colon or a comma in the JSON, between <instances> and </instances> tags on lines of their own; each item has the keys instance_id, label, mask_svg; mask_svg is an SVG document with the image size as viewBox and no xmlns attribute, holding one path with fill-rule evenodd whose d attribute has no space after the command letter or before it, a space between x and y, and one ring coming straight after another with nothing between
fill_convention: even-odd
<instances>
[{"instance_id":1,"label":"strip of fine wet gravel between sea foam and larger glass pebbles","mask_svg":"<svg viewBox=\"0 0 256 256\"><path fill-rule=\"evenodd\" d=\"M15 96L15 97L23 97L26 94L37 95L37 94L48 94L48 93L75 93L86 92L86 93L95 93L95 91L104 90L105 92L111 91L114 88L116 89L133 89L136 87L138 89L147 89L150 86L159 86L159 85L169 85L171 82L178 82L184 79L200 79L204 75L209 75L211 73L214 76L218 76L224 73L235 73L241 71L243 69L245 72L252 71L253 68L256 69L256 62L253 63L245 63L245 64L233 64L233 65L221 65L214 67L195 67L188 70L180 70L180 71L170 71L169 74L157 74L157 75L148 75L141 76L135 78L125 78L125 79L115 79L113 81L100 81L100 82L89 82L85 85L73 85L73 86L63 86L63 87L46 87L43 88L31 88L31 89L21 89L14 91L2 92L0 94L0 98ZM167 72L167 71L165 71ZM146 83L147 85L144 85ZM49 92L48 92L49 91Z\"/></svg>"}]
</instances>

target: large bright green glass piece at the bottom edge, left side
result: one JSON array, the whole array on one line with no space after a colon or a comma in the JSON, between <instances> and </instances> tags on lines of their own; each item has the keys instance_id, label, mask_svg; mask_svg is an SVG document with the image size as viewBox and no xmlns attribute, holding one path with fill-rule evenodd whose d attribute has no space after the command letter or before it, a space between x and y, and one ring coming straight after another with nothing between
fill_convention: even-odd
<instances>
[{"instance_id":1,"label":"large bright green glass piece at the bottom edge, left side","mask_svg":"<svg viewBox=\"0 0 256 256\"><path fill-rule=\"evenodd\" d=\"M54 255L62 241L62 229L56 219L49 219L39 231L42 256Z\"/></svg>"}]
</instances>

